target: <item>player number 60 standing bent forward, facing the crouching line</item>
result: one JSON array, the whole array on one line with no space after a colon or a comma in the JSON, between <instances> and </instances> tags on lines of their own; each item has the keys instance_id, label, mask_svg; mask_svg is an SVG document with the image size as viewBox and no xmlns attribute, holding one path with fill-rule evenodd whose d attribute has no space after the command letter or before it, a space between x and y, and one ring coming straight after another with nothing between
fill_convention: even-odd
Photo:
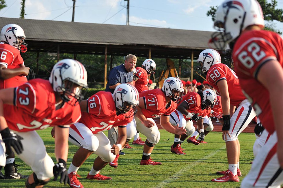
<instances>
[{"instance_id":1,"label":"player number 60 standing bent forward, facing the crouching line","mask_svg":"<svg viewBox=\"0 0 283 188\"><path fill-rule=\"evenodd\" d=\"M212 179L216 182L239 182L241 171L240 142L238 135L256 116L250 102L243 95L239 79L235 72L227 65L221 63L220 54L213 49L203 50L198 57L199 66L196 67L199 74L206 74L208 83L221 95L223 111L222 139L225 140L229 168L219 171L223 177ZM237 110L234 112L235 107ZM234 113L233 113L234 112ZM232 115L230 119L230 114Z\"/></svg>"}]
</instances>

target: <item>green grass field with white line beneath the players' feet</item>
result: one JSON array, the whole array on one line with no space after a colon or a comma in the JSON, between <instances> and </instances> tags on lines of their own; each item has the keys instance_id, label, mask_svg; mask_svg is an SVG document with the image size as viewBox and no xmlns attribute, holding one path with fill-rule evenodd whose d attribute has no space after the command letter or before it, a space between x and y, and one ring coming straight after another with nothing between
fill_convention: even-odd
<instances>
[{"instance_id":1,"label":"green grass field with white line beneath the players' feet","mask_svg":"<svg viewBox=\"0 0 283 188\"><path fill-rule=\"evenodd\" d=\"M38 131L43 139L47 153L54 157L54 139L50 135L51 128ZM174 141L174 136L165 130L160 130L161 139L152 152L154 161L162 162L159 166L139 165L142 157L142 145L132 145L133 149L124 149L125 155L121 155L118 160L118 168L110 168L107 165L100 173L111 176L111 181L87 180L86 176L90 171L96 155L91 155L81 166L78 174L79 180L85 188L89 187L240 187L241 182L217 183L211 179L221 177L215 174L219 170L227 170L226 146L222 141L220 132L212 132L205 137L208 144L193 145L187 142L182 144L186 155L176 155L171 153L170 146ZM107 131L105 132L107 134ZM142 140L146 138L141 134ZM169 140L168 140L169 139ZM255 136L252 133L241 133L239 136L241 143L240 169L243 174L240 181L245 177L251 168L250 162L253 160L252 147ZM132 140L130 141L130 143ZM36 149L36 148L35 148ZM68 166L72 161L77 147L70 144L68 154ZM21 165L19 172L31 174L29 166L16 158L16 163ZM25 180L0 180L0 187L24 187ZM69 187L51 180L45 187Z\"/></svg>"}]
</instances>

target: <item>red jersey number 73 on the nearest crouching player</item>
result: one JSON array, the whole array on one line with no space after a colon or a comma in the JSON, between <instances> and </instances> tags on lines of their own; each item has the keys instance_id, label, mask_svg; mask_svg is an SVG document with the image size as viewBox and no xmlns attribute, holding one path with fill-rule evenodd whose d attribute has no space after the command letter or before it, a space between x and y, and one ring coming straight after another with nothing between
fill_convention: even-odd
<instances>
[{"instance_id":1,"label":"red jersey number 73 on the nearest crouching player","mask_svg":"<svg viewBox=\"0 0 283 188\"><path fill-rule=\"evenodd\" d=\"M65 103L55 110L55 92L48 80L30 80L16 87L14 93L14 106L4 104L4 117L9 129L27 132L74 124L81 118L79 105Z\"/></svg>"}]
</instances>

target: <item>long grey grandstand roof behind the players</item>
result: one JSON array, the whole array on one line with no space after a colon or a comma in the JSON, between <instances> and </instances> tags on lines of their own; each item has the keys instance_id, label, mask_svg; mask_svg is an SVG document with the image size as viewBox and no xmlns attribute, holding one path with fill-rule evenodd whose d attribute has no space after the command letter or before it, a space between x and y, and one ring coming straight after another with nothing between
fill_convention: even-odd
<instances>
[{"instance_id":1,"label":"long grey grandstand roof behind the players","mask_svg":"<svg viewBox=\"0 0 283 188\"><path fill-rule=\"evenodd\" d=\"M108 55L135 54L187 59L208 48L212 32L126 25L0 18L0 28L15 23L27 37L29 51ZM184 23L186 24L186 23Z\"/></svg>"}]
</instances>

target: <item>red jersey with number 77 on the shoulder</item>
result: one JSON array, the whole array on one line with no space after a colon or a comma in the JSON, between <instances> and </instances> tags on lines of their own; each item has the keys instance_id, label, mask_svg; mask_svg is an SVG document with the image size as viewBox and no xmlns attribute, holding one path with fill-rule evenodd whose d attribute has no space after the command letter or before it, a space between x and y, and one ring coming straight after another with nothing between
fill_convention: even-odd
<instances>
[{"instance_id":1,"label":"red jersey with number 77 on the shoulder","mask_svg":"<svg viewBox=\"0 0 283 188\"><path fill-rule=\"evenodd\" d=\"M187 103L188 108L187 111L190 112L191 114L197 114L199 113L199 116L207 116L211 110L202 110L202 99L200 97L200 95L196 92L190 92L187 93L182 101L178 104L178 106L183 103L183 101L185 101L185 103ZM185 116L183 114L184 118L186 119L186 121L189 121L190 118L188 118L187 116Z\"/></svg>"}]
</instances>

